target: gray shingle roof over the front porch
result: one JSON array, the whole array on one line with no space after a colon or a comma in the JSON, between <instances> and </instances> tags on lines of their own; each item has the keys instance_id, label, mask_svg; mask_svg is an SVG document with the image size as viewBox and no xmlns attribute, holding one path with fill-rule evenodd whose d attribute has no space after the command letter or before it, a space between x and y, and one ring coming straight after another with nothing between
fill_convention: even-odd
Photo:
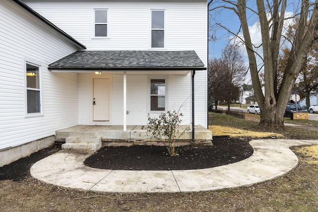
<instances>
[{"instance_id":1,"label":"gray shingle roof over the front porch","mask_svg":"<svg viewBox=\"0 0 318 212\"><path fill-rule=\"evenodd\" d=\"M78 51L50 70L206 70L195 51Z\"/></svg>"}]
</instances>

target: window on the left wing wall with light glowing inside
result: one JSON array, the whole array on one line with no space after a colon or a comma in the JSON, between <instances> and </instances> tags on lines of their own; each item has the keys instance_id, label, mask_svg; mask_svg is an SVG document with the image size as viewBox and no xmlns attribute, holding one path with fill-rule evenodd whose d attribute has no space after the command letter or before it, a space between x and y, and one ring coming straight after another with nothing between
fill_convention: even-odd
<instances>
[{"instance_id":1,"label":"window on the left wing wall with light glowing inside","mask_svg":"<svg viewBox=\"0 0 318 212\"><path fill-rule=\"evenodd\" d=\"M26 111L41 113L40 67L26 63Z\"/></svg>"}]
</instances>

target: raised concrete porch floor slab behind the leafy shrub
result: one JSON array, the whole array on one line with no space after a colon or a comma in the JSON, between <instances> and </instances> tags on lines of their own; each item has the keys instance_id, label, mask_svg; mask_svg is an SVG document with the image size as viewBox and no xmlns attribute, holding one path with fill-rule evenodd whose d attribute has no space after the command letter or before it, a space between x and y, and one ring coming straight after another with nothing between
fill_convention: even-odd
<instances>
[{"instance_id":1,"label":"raised concrete porch floor slab behind the leafy shrub","mask_svg":"<svg viewBox=\"0 0 318 212\"><path fill-rule=\"evenodd\" d=\"M147 136L147 126L128 125L127 130L120 125L76 125L56 131L56 141L65 141L67 137L101 137L102 146L118 145L162 145L162 143ZM183 132L186 126L179 126ZM212 132L202 126L195 126L194 138L192 130L186 131L177 141L177 145L212 145ZM177 136L178 137L178 136Z\"/></svg>"}]
</instances>

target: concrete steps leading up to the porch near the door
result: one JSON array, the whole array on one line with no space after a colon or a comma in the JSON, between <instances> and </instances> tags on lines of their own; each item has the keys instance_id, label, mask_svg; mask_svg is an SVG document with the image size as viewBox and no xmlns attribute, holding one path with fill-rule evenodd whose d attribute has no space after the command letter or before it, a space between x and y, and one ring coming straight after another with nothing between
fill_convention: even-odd
<instances>
[{"instance_id":1,"label":"concrete steps leading up to the porch near the door","mask_svg":"<svg viewBox=\"0 0 318 212\"><path fill-rule=\"evenodd\" d=\"M97 151L101 148L101 137L67 137L62 149Z\"/></svg>"}]
</instances>

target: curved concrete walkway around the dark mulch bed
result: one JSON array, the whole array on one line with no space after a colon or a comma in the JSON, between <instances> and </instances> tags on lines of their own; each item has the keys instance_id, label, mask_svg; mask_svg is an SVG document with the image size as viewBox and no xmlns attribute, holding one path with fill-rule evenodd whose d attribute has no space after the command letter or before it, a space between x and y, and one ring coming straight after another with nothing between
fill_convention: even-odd
<instances>
[{"instance_id":1,"label":"curved concrete walkway around the dark mulch bed","mask_svg":"<svg viewBox=\"0 0 318 212\"><path fill-rule=\"evenodd\" d=\"M100 192L195 192L251 185L293 169L292 145L318 144L308 140L254 140L254 153L237 163L214 168L177 171L124 171L90 168L90 153L61 150L31 167L31 175L57 186Z\"/></svg>"}]
</instances>

